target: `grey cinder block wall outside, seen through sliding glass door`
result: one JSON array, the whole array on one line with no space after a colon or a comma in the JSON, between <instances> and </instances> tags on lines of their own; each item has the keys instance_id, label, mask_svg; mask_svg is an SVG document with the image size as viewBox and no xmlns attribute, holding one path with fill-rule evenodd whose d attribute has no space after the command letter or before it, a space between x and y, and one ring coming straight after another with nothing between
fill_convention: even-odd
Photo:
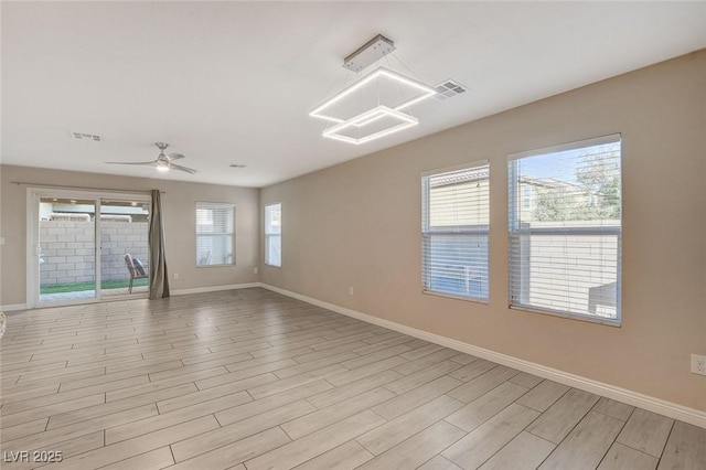
<instances>
[{"instance_id":1,"label":"grey cinder block wall outside, seen through sliding glass door","mask_svg":"<svg viewBox=\"0 0 706 470\"><path fill-rule=\"evenodd\" d=\"M95 269L95 227L93 222L40 222L41 284L85 282ZM149 260L147 222L103 222L100 224L100 276L103 279L128 279L125 254Z\"/></svg>"}]
</instances>

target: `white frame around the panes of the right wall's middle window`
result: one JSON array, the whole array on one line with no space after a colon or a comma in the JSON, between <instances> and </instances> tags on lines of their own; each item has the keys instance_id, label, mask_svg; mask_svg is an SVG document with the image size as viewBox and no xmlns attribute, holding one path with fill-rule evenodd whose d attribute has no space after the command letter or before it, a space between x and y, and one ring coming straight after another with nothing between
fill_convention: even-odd
<instances>
[{"instance_id":1,"label":"white frame around the panes of the right wall's middle window","mask_svg":"<svg viewBox=\"0 0 706 470\"><path fill-rule=\"evenodd\" d=\"M429 222L431 218L431 214L430 214L430 210L429 210L429 201L430 201L430 184L428 184L428 179L430 177L434 175L438 175L438 174L443 174L443 173L451 173L454 171L462 171L462 170L481 170L483 167L485 167L485 171L488 172L488 193L486 193L486 200L488 200L488 224L485 225L477 225L474 226L474 228L470 228L470 229L453 229L453 228L441 228L441 229L430 229L429 228ZM468 236L468 235L481 235L485 237L485 246L486 246L486 255L485 255L485 266L484 266L484 270L485 270L485 277L484 279L482 279L481 281L484 281L485 285L488 286L486 288L486 292L488 295L485 297L479 297L479 296L471 296L471 295L457 295L457 293L451 293L451 292L446 292L446 291L440 291L440 290L434 290L431 289L431 281L430 281L430 276L431 274L429 273L429 268L427 267L427 259L426 259L426 246L427 246L427 239L431 239L432 236L453 236L453 235L458 235L458 236ZM431 296L438 296L438 297L446 297L446 298L450 298L450 299L456 299L456 300L463 300L463 301L469 301L469 302L475 302L475 303L482 303L482 305L489 305L490 303L490 269L491 269L491 264L490 264L490 243L491 243L491 238L490 238L490 161L489 160L477 160L477 161L472 161L472 162L468 162L468 163L462 163L462 164L458 164L458 165L453 165L453 167L446 167L446 168L440 168L440 169L435 169L435 170L428 170L421 173L421 231L420 231L420 236L421 236L421 292L426 293L426 295L431 295Z\"/></svg>"}]
</instances>

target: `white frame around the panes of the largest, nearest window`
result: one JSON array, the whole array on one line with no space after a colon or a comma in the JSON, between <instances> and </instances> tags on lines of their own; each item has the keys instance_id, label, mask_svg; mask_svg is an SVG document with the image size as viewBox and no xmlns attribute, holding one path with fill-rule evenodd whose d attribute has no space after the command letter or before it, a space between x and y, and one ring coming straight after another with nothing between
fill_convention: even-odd
<instances>
[{"instance_id":1,"label":"white frame around the panes of the largest, nearest window","mask_svg":"<svg viewBox=\"0 0 706 470\"><path fill-rule=\"evenodd\" d=\"M611 226L611 225L597 225L597 226L576 226L576 227L521 227L520 226L520 214L526 207L524 207L524 197L520 194L520 185L518 180L520 175L517 174L517 165L515 164L517 161L532 158L532 157L541 157L546 156L548 153L556 153L563 151L570 150L580 150L584 148L589 148L599 145L608 145L608 143L618 143L620 156L618 161L620 162L620 225ZM507 190L509 190L509 200L507 200L507 307L513 310L524 310L528 312L536 312L543 314L550 314L555 317L568 318L573 320L588 321L592 323L607 324L611 327L620 327L622 324L622 222L623 222L623 211L622 211L622 177L623 177L623 149L622 149L622 135L621 133L612 133L601 137L596 137L591 139L578 140L567 143L561 143L558 146L550 146L535 150L523 151L518 153L511 153L507 156ZM514 194L514 196L513 196ZM513 284L512 279L514 276L513 273L513 242L518 243L521 236L527 235L552 235L552 236L585 236L585 235L609 235L616 236L616 318L610 317L600 317L590 313L580 313L580 312L570 312L563 310L555 310L549 308L543 308L541 306L533 306L530 302L524 302L522 299L513 298ZM528 266L521 267L522 269L530 269ZM521 278L527 277L527 280L521 280L524 282L528 282L528 274L523 275L518 274ZM590 301L589 301L590 306Z\"/></svg>"}]
</instances>

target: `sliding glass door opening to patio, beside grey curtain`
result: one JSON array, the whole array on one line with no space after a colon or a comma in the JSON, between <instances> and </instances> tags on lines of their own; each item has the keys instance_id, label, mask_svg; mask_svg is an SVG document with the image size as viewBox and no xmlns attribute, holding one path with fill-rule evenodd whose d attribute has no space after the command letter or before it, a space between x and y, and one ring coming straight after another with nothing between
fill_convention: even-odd
<instances>
[{"instance_id":1,"label":"sliding glass door opening to patio, beside grey curtain","mask_svg":"<svg viewBox=\"0 0 706 470\"><path fill-rule=\"evenodd\" d=\"M30 190L28 196L30 307L147 296L146 194Z\"/></svg>"}]
</instances>

